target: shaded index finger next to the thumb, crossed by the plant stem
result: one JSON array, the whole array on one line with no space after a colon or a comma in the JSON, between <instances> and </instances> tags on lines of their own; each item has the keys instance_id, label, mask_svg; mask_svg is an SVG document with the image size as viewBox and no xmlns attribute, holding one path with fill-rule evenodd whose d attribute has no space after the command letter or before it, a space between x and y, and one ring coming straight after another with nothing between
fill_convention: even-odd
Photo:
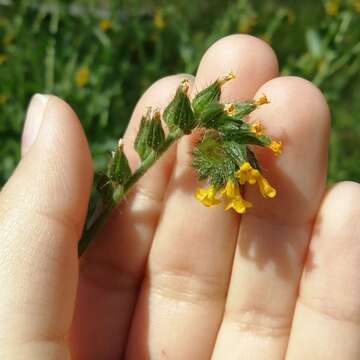
<instances>
[{"instance_id":1,"label":"shaded index finger next to the thumb, crossed by the plant stem","mask_svg":"<svg viewBox=\"0 0 360 360\"><path fill-rule=\"evenodd\" d=\"M139 100L124 138L133 168L138 162L133 142L141 117L149 106L163 109L184 78L192 82L185 74L163 78ZM76 359L121 356L175 150L176 146L169 149L144 175L83 255L71 335Z\"/></svg>"}]
</instances>

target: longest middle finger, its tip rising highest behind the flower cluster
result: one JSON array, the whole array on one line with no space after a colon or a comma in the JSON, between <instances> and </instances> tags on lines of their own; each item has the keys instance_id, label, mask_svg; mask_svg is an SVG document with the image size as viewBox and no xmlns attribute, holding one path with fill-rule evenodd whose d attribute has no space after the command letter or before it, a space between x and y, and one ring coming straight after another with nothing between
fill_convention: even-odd
<instances>
[{"instance_id":1,"label":"longest middle finger, its tip rising highest behind the flower cluster","mask_svg":"<svg viewBox=\"0 0 360 360\"><path fill-rule=\"evenodd\" d=\"M277 60L256 38L226 37L205 53L196 89L230 70L237 78L225 85L223 98L251 98L276 76ZM221 321L239 216L204 208L194 199L199 185L189 166L192 141L191 136L184 138L178 146L132 323L128 359L208 359Z\"/></svg>"}]
</instances>

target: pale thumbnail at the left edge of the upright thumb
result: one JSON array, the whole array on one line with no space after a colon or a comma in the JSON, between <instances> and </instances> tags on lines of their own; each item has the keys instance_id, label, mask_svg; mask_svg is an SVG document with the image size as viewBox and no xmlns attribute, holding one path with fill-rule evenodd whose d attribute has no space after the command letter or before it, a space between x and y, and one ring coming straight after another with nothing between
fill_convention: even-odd
<instances>
[{"instance_id":1,"label":"pale thumbnail at the left edge of the upright thumb","mask_svg":"<svg viewBox=\"0 0 360 360\"><path fill-rule=\"evenodd\" d=\"M35 94L30 101L21 139L22 156L29 151L36 140L48 100L48 95Z\"/></svg>"}]
</instances>

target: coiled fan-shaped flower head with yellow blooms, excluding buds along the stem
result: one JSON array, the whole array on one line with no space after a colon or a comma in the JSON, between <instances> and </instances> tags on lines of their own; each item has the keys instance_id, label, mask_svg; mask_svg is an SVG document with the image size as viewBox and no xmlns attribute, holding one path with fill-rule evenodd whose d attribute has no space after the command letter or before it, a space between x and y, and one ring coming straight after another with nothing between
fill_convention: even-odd
<instances>
[{"instance_id":1,"label":"coiled fan-shaped flower head with yellow blooms, excluding buds along the stem","mask_svg":"<svg viewBox=\"0 0 360 360\"><path fill-rule=\"evenodd\" d=\"M259 122L249 123L246 117L257 107L268 104L265 95L254 101L228 104L219 102L221 86L234 78L229 74L211 84L196 95L193 107L199 126L204 133L193 151L193 167L200 180L209 183L207 188L197 189L195 197L205 206L211 207L225 202L225 210L234 209L244 214L252 207L241 193L245 184L257 184L265 198L276 196L276 190L261 173L260 165L249 146L267 147L275 155L281 153L281 142L264 134ZM216 96L212 96L213 88ZM201 106L197 106L199 99ZM195 104L195 106L194 106Z\"/></svg>"}]
</instances>

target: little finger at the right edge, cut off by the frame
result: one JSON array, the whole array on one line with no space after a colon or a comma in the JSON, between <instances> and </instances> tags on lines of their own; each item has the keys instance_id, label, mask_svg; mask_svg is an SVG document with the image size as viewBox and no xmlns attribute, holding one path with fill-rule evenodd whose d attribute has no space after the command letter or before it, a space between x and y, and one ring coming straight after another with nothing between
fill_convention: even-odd
<instances>
[{"instance_id":1,"label":"little finger at the right edge, cut off by the frame","mask_svg":"<svg viewBox=\"0 0 360 360\"><path fill-rule=\"evenodd\" d=\"M360 359L360 185L326 195L310 243L286 358Z\"/></svg>"}]
</instances>

